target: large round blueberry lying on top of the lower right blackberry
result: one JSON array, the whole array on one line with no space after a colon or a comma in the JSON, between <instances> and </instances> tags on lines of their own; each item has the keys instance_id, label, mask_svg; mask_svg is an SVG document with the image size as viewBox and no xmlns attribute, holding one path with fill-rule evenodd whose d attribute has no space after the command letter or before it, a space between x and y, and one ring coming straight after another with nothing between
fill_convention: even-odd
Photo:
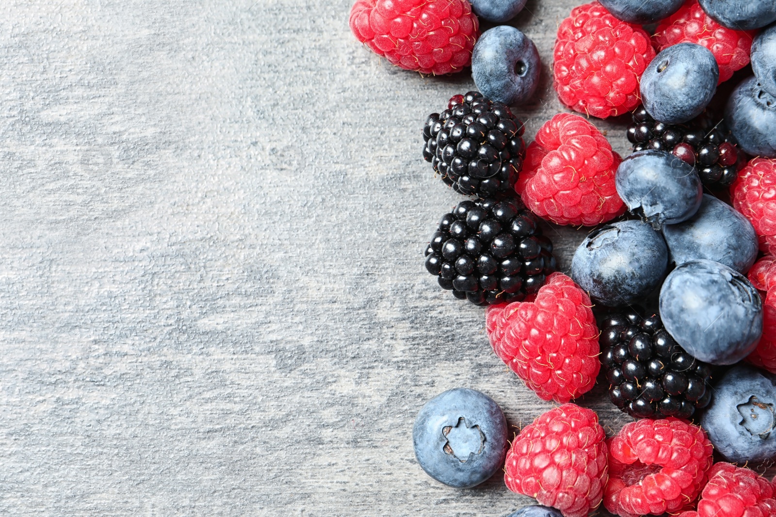
<instances>
[{"instance_id":1,"label":"large round blueberry lying on top of the lower right blackberry","mask_svg":"<svg viewBox=\"0 0 776 517\"><path fill-rule=\"evenodd\" d=\"M763 331L757 289L712 260L691 260L670 272L660 288L660 317L684 350L710 364L747 357Z\"/></svg>"}]
</instances>

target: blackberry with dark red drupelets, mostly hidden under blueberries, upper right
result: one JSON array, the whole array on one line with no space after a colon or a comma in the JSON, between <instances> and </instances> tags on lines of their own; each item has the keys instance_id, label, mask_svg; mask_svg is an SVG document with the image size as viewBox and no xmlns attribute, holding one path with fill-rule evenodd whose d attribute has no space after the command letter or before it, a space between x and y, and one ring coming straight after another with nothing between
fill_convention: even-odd
<instances>
[{"instance_id":1,"label":"blackberry with dark red drupelets, mostly hidden under blueberries, upper right","mask_svg":"<svg viewBox=\"0 0 776 517\"><path fill-rule=\"evenodd\" d=\"M686 124L656 122L643 106L632 113L628 140L634 151L664 150L691 164L710 189L728 188L747 164L722 117L706 111Z\"/></svg>"}]
</instances>

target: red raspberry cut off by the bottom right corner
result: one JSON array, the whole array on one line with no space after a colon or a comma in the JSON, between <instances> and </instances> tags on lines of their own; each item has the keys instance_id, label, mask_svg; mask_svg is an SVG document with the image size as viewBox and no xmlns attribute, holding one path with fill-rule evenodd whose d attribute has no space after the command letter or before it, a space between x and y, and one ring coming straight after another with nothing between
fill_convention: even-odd
<instances>
[{"instance_id":1,"label":"red raspberry cut off by the bottom right corner","mask_svg":"<svg viewBox=\"0 0 776 517\"><path fill-rule=\"evenodd\" d=\"M774 517L774 487L753 470L720 462L708 471L697 512L679 517Z\"/></svg>"}]
</instances>

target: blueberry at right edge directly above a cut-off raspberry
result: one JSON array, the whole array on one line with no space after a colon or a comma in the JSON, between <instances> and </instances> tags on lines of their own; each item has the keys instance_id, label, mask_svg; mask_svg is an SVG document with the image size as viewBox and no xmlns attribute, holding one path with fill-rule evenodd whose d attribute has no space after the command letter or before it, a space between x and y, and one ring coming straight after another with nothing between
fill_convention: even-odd
<instances>
[{"instance_id":1,"label":"blueberry at right edge directly above a cut-off raspberry","mask_svg":"<svg viewBox=\"0 0 776 517\"><path fill-rule=\"evenodd\" d=\"M738 144L752 156L776 158L776 97L752 76L730 95L725 122Z\"/></svg>"}]
</instances>

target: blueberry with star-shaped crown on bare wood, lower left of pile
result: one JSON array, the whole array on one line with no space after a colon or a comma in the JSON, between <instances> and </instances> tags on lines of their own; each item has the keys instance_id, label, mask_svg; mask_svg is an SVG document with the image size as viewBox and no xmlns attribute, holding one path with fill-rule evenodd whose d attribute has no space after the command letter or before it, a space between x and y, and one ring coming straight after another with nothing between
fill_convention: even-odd
<instances>
[{"instance_id":1,"label":"blueberry with star-shaped crown on bare wood, lower left of pile","mask_svg":"<svg viewBox=\"0 0 776 517\"><path fill-rule=\"evenodd\" d=\"M412 429L417 463L455 488L471 488L501 468L507 436L501 408L468 388L454 388L426 402Z\"/></svg>"}]
</instances>

